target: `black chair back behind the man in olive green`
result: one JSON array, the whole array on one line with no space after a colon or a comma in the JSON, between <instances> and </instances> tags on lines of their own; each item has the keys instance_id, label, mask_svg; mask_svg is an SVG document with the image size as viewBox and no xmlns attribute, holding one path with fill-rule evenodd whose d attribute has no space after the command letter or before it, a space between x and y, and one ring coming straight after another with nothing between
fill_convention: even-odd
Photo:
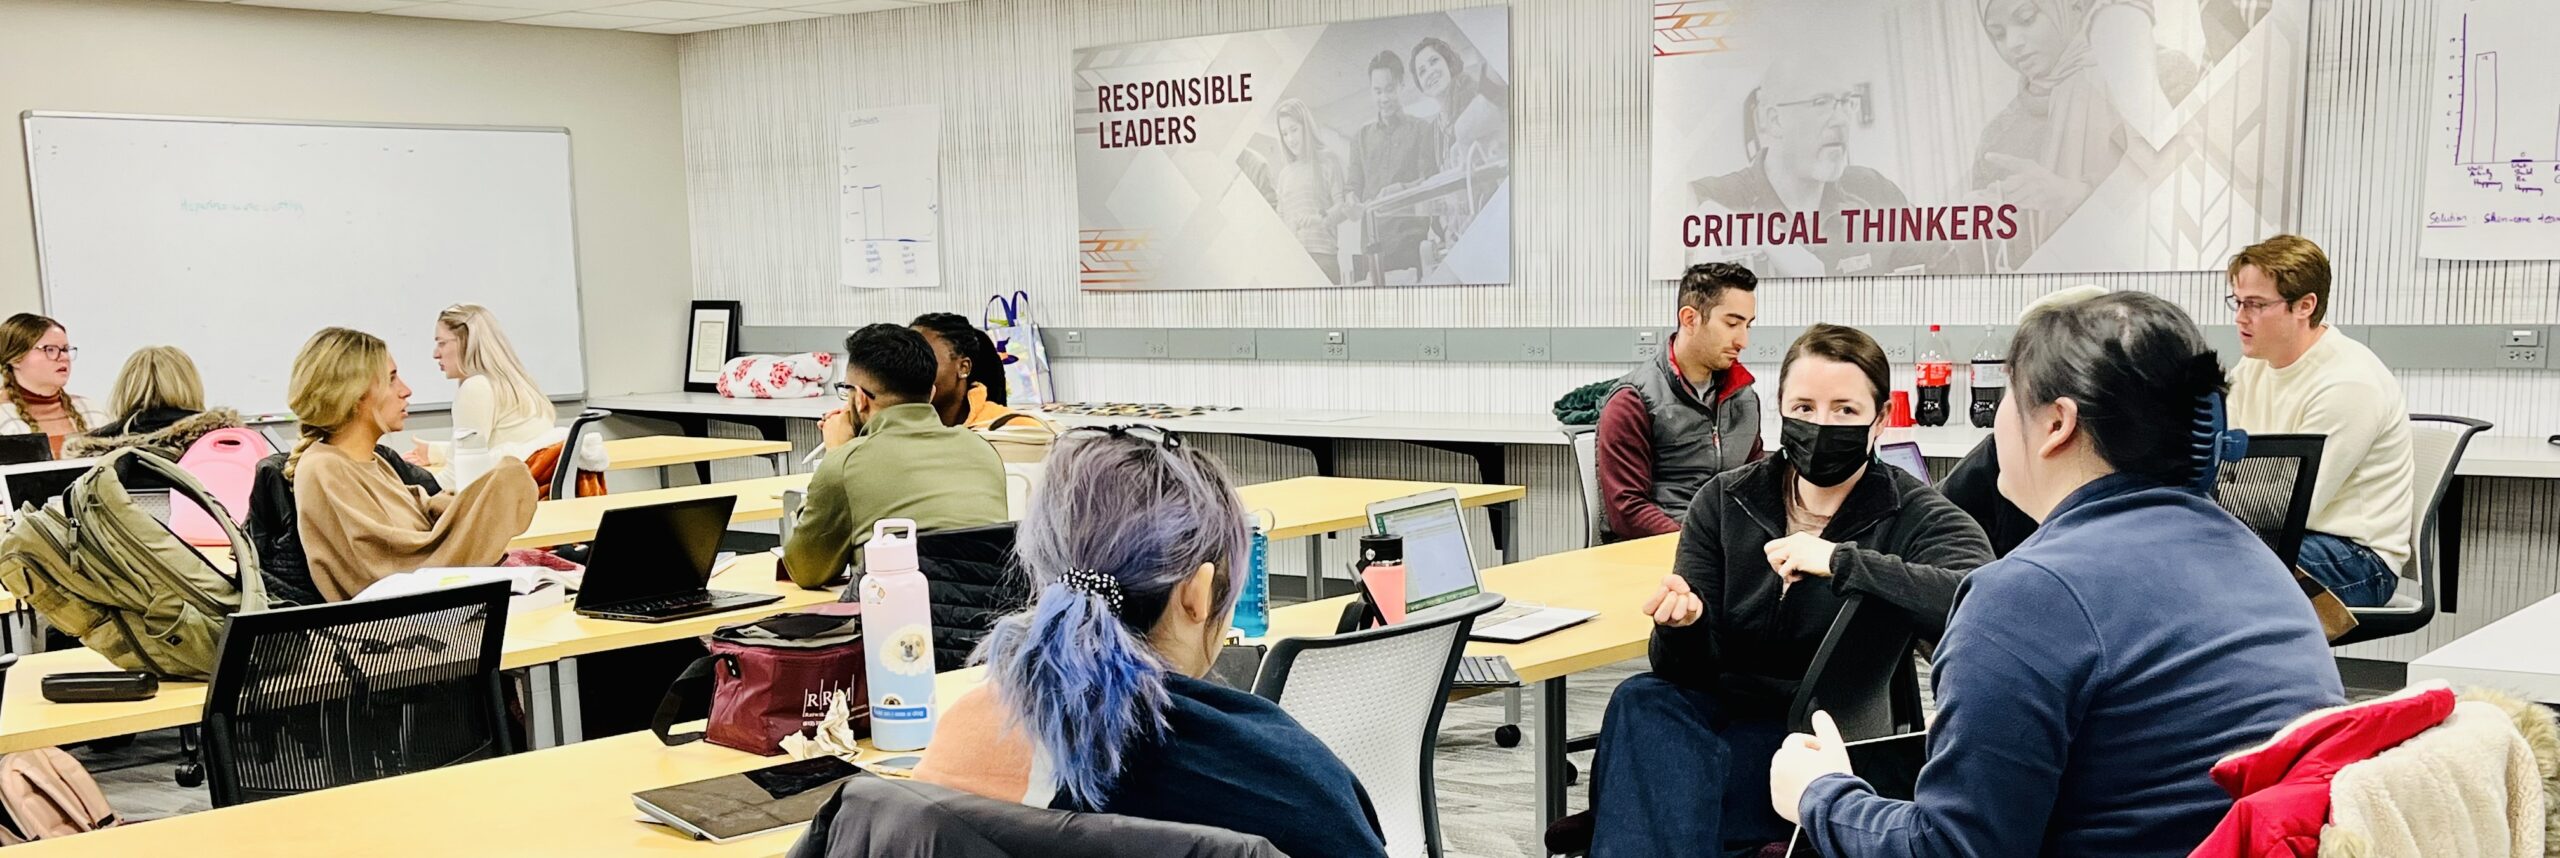
<instances>
[{"instance_id":1,"label":"black chair back behind the man in olive green","mask_svg":"<svg viewBox=\"0 0 2560 858\"><path fill-rule=\"evenodd\" d=\"M934 663L957 668L996 620L1032 604L1032 576L1014 569L1014 522L916 533L934 612ZM852 587L847 599L860 599Z\"/></svg>"}]
</instances>

